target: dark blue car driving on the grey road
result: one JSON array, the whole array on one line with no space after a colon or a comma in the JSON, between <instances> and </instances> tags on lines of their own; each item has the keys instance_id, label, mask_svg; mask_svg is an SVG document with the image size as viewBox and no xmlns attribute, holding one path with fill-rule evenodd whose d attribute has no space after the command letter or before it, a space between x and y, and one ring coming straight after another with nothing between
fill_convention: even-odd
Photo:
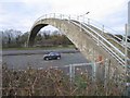
<instances>
[{"instance_id":1,"label":"dark blue car driving on the grey road","mask_svg":"<svg viewBox=\"0 0 130 98\"><path fill-rule=\"evenodd\" d=\"M49 52L43 56L43 60L57 60L61 59L61 54L58 52Z\"/></svg>"}]
</instances>

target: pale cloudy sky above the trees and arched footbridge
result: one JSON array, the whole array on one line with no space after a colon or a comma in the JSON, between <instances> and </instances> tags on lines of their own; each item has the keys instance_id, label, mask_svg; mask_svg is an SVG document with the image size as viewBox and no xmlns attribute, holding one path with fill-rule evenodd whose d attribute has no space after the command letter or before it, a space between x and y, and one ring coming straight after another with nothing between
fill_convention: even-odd
<instances>
[{"instance_id":1,"label":"pale cloudy sky above the trees and arched footbridge","mask_svg":"<svg viewBox=\"0 0 130 98\"><path fill-rule=\"evenodd\" d=\"M125 33L129 0L0 0L0 30L30 30L34 22L43 14L62 13L81 15Z\"/></svg>"}]
</instances>

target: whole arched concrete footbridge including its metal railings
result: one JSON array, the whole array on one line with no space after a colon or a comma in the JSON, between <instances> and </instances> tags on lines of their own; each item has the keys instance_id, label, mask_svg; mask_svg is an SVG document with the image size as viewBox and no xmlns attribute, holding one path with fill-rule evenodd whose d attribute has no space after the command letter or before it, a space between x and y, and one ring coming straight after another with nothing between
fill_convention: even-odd
<instances>
[{"instance_id":1,"label":"whole arched concrete footbridge including its metal railings","mask_svg":"<svg viewBox=\"0 0 130 98\"><path fill-rule=\"evenodd\" d=\"M107 60L113 68L118 69L120 73L125 73L126 64L129 63L130 59L130 46L127 46L126 51L122 39L114 35L114 30L105 28L104 25L90 19L55 13L46 14L32 25L28 38L29 47L34 45L38 32L48 25L52 25L64 33L86 59L92 62ZM128 56L125 54L126 52Z\"/></svg>"}]
</instances>

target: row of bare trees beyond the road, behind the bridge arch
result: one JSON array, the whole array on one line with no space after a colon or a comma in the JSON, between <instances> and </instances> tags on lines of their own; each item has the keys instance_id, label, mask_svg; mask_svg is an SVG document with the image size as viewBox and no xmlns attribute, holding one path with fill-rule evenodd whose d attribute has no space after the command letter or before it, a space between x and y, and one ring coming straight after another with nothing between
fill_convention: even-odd
<instances>
[{"instance_id":1,"label":"row of bare trees beyond the road, behind the bridge arch","mask_svg":"<svg viewBox=\"0 0 130 98\"><path fill-rule=\"evenodd\" d=\"M3 48L20 48L27 47L29 32L22 33L21 30L6 29L2 33L2 47ZM35 38L35 47L49 47L49 46L67 46L73 42L58 30L43 30L39 32Z\"/></svg>"}]
</instances>

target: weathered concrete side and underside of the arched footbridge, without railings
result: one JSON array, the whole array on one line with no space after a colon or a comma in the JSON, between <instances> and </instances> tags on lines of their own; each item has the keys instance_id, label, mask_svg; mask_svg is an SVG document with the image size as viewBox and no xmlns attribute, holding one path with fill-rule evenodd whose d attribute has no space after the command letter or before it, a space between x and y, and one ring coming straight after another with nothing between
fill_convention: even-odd
<instances>
[{"instance_id":1,"label":"weathered concrete side and underside of the arched footbridge, without railings","mask_svg":"<svg viewBox=\"0 0 130 98\"><path fill-rule=\"evenodd\" d=\"M55 26L64 33L66 37L68 37L68 39L72 40L72 42L82 52L86 59L95 62L99 57L102 57L102 60L108 59L113 66L120 68L118 61L106 52L102 46L98 45L89 34L87 34L79 26L66 20L44 19L38 21L30 30L30 36L28 39L29 47L34 45L35 37L38 32L47 25ZM122 69L120 68L120 71Z\"/></svg>"}]
</instances>

